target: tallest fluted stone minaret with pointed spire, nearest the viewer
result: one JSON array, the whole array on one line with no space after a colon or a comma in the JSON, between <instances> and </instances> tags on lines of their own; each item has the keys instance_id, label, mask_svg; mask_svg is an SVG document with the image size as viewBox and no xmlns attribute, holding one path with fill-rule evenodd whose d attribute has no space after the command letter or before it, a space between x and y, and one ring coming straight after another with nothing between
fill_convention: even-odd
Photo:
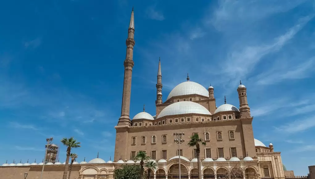
<instances>
[{"instance_id":1,"label":"tallest fluted stone minaret with pointed spire, nearest the viewer","mask_svg":"<svg viewBox=\"0 0 315 179\"><path fill-rule=\"evenodd\" d=\"M134 66L133 61L133 50L135 46L135 23L134 23L134 8L131 11L131 18L128 29L128 38L126 40L127 52L126 59L123 62L125 67L125 74L123 78L123 100L121 105L121 116L118 121L119 125L130 125L131 121L129 118L129 110L130 110L130 94L131 94L131 76L132 76L132 68Z\"/></svg>"}]
</instances>

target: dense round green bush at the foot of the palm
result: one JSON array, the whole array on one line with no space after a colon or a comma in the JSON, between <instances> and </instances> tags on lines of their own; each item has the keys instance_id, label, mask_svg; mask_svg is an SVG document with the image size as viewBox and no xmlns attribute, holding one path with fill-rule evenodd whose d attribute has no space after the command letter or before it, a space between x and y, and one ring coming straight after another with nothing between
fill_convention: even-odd
<instances>
[{"instance_id":1,"label":"dense round green bush at the foot of the palm","mask_svg":"<svg viewBox=\"0 0 315 179\"><path fill-rule=\"evenodd\" d=\"M114 170L114 179L140 179L141 177L140 165L122 165Z\"/></svg>"}]
</instances>

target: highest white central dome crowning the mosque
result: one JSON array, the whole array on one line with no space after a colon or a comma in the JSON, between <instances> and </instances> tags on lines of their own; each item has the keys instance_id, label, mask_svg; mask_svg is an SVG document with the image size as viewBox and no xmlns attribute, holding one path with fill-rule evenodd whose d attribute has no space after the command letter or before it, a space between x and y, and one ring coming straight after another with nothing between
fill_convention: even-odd
<instances>
[{"instance_id":1,"label":"highest white central dome crowning the mosque","mask_svg":"<svg viewBox=\"0 0 315 179\"><path fill-rule=\"evenodd\" d=\"M201 84L198 84L196 82L192 81L185 81L172 89L172 91L169 93L169 96L167 96L166 100L169 100L173 96L180 96L180 95L202 95L209 97L209 92L206 88L204 88Z\"/></svg>"}]
</instances>

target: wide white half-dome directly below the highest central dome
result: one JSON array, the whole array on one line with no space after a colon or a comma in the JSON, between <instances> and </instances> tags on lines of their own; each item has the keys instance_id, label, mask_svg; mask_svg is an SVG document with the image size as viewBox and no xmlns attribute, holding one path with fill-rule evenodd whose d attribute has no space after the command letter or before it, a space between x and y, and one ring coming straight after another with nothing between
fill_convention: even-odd
<instances>
[{"instance_id":1,"label":"wide white half-dome directly below the highest central dome","mask_svg":"<svg viewBox=\"0 0 315 179\"><path fill-rule=\"evenodd\" d=\"M157 116L157 118L162 118L164 116L177 115L177 114L207 114L211 115L211 113L207 110L207 108L202 105L192 102L192 101L180 101L170 104L165 107L161 113Z\"/></svg>"}]
</instances>

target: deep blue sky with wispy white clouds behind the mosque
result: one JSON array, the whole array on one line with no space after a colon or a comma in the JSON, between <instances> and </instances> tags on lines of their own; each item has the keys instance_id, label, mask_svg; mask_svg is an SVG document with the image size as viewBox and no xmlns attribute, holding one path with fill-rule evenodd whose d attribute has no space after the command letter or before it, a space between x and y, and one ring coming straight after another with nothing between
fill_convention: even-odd
<instances>
[{"instance_id":1,"label":"deep blue sky with wispy white clouds behind the mosque","mask_svg":"<svg viewBox=\"0 0 315 179\"><path fill-rule=\"evenodd\" d=\"M209 3L210 2L210 3ZM315 152L315 2L2 1L0 3L0 159L44 155L45 138L75 136L89 161L113 157L121 111L130 11L135 48L130 116L154 115L158 58L163 99L191 81L215 88L217 106L238 106L248 90L256 139L271 141L295 175Z\"/></svg>"}]
</instances>

